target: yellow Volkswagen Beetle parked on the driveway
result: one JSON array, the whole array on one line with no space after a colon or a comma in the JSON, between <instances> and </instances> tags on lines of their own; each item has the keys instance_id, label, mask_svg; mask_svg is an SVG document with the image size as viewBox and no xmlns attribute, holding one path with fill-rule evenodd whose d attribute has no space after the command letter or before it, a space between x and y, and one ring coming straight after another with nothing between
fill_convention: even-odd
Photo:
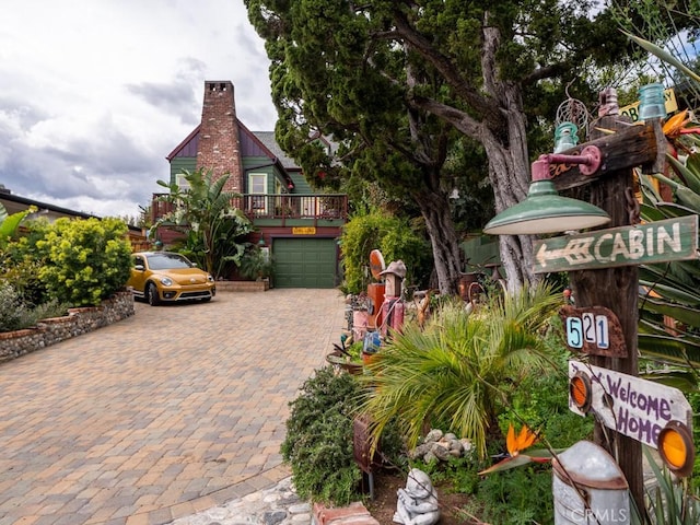
<instances>
[{"instance_id":1,"label":"yellow Volkswagen Beetle parked on the driveway","mask_svg":"<svg viewBox=\"0 0 700 525\"><path fill-rule=\"evenodd\" d=\"M151 306L165 301L206 302L217 294L214 279L180 254L139 252L131 257L133 267L127 288Z\"/></svg>"}]
</instances>

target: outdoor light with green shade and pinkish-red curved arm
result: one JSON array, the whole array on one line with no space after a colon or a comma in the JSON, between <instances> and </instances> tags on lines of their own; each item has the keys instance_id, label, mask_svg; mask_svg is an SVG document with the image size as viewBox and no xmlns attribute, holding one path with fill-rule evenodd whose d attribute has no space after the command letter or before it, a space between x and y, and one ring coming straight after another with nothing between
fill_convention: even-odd
<instances>
[{"instance_id":1,"label":"outdoor light with green shade and pinkish-red curved arm","mask_svg":"<svg viewBox=\"0 0 700 525\"><path fill-rule=\"evenodd\" d=\"M587 145L580 155L540 155L533 162L533 182L527 198L491 219L483 228L483 233L533 235L583 230L610 222L610 217L600 208L582 200L560 197L549 173L551 164L579 164L582 174L593 175L600 166L600 150L595 145Z\"/></svg>"}]
</instances>

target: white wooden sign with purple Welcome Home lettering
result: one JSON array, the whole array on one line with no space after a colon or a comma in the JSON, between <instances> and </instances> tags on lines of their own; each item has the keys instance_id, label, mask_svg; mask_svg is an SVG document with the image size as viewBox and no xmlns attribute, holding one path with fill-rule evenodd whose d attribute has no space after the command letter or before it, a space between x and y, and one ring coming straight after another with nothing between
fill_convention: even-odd
<instances>
[{"instance_id":1,"label":"white wooden sign with purple Welcome Home lettering","mask_svg":"<svg viewBox=\"0 0 700 525\"><path fill-rule=\"evenodd\" d=\"M692 408L677 388L571 360L569 377L576 374L590 380L590 411L608 429L656 448L658 433L668 422L692 428ZM569 409L585 416L571 396Z\"/></svg>"}]
</instances>

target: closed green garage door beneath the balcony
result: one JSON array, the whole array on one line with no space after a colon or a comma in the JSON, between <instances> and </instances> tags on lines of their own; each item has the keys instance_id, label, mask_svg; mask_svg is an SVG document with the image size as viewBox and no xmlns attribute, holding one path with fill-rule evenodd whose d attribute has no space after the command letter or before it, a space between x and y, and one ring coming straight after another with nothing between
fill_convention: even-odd
<instances>
[{"instance_id":1,"label":"closed green garage door beneath the balcony","mask_svg":"<svg viewBox=\"0 0 700 525\"><path fill-rule=\"evenodd\" d=\"M334 238L276 238L272 254L276 288L335 288Z\"/></svg>"}]
</instances>

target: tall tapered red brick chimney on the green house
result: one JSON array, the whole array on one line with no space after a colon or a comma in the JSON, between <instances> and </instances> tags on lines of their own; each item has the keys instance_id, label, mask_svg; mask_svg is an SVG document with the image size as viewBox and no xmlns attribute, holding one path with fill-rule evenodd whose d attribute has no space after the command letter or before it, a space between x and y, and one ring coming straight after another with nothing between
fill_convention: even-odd
<instances>
[{"instance_id":1,"label":"tall tapered red brick chimney on the green house","mask_svg":"<svg viewBox=\"0 0 700 525\"><path fill-rule=\"evenodd\" d=\"M201 110L197 170L212 171L214 178L225 173L231 176L224 189L242 194L243 160L236 122L233 83L206 81L205 103Z\"/></svg>"}]
</instances>

